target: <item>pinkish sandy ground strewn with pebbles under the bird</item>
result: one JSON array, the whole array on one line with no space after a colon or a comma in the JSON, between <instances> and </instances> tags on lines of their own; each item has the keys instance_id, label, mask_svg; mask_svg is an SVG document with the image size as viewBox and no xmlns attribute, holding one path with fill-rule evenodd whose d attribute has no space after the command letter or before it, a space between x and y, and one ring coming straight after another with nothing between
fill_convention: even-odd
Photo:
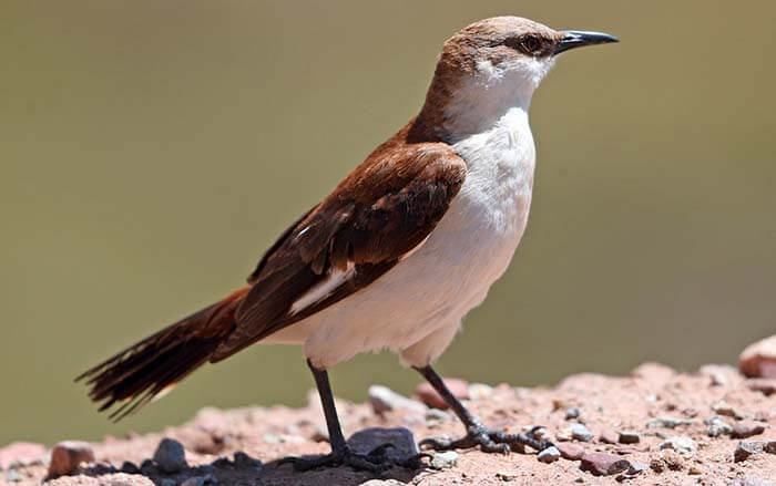
<instances>
[{"instance_id":1,"label":"pinkish sandy ground strewn with pebbles under the bird","mask_svg":"<svg viewBox=\"0 0 776 486\"><path fill-rule=\"evenodd\" d=\"M380 476L345 467L296 473L288 465L279 466L277 459L328 451L320 409L317 397L312 395L304 409L203 409L192 421L163 433L121 440L106 437L92 444L95 463L83 464L73 475L49 479L47 484L776 485L776 443L767 452L768 441L776 441L776 381L747 380L732 366L706 365L696 373L676 373L662 365L644 364L630 376L579 374L551 389L502 384L492 389L472 385L469 390L471 409L491 426L519 432L543 425L566 456L599 452L609 455L585 459L614 457L619 463L607 475L606 471L590 471L595 464L591 466L590 462L574 458L545 464L531 449L508 456L471 449L458 451L457 463L442 469L432 468L430 461L426 461L425 468L394 468ZM368 403L339 402L338 406L346 433L368 427L402 427L417 442L445 434L458 436L462 432L461 424L449 414L425 412L418 403L409 406L397 403L394 410L382 413L375 412ZM718 417L716 430L709 431L714 416ZM755 435L733 438L722 423L735 426L737 434ZM592 433L592 438L584 436L584 428ZM620 432L626 434L620 436ZM163 437L175 438L185 447L187 466L177 473L165 474L150 461ZM364 437L368 443L365 447L384 441L374 433L361 434ZM746 454L739 453L736 462L735 451L742 441L756 441L759 445L755 444L754 448L766 451L746 458ZM407 447L411 448L411 443ZM0 448L3 469L0 484L43 482L50 452L39 452L34 457L34 451L35 446ZM244 454L235 456L235 453Z\"/></svg>"}]
</instances>

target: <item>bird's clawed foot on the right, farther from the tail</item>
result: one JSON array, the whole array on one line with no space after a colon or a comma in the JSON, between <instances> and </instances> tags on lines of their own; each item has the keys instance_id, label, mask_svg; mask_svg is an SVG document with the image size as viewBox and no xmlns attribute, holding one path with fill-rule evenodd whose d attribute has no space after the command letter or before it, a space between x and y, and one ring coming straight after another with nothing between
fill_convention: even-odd
<instances>
[{"instance_id":1,"label":"bird's clawed foot on the right, farther from the tail","mask_svg":"<svg viewBox=\"0 0 776 486\"><path fill-rule=\"evenodd\" d=\"M540 428L543 427L535 426L524 433L508 434L502 431L493 431L483 425L474 424L468 427L467 435L462 438L426 438L420 442L420 447L432 451L450 451L456 448L471 448L479 445L482 452L500 454L522 451L524 446L537 451L543 451L553 444L550 441L537 437L537 432Z\"/></svg>"}]
</instances>

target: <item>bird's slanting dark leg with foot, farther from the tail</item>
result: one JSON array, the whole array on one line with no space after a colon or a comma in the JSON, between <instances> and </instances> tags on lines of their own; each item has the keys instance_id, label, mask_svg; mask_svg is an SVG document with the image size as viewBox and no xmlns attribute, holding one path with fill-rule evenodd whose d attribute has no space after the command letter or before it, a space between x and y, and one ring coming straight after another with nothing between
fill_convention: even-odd
<instances>
[{"instance_id":1,"label":"bird's slanting dark leg with foot, farther from the tail","mask_svg":"<svg viewBox=\"0 0 776 486\"><path fill-rule=\"evenodd\" d=\"M508 454L513 449L522 449L523 446L543 451L550 443L537 438L534 432L540 427L534 427L528 433L507 434L503 431L494 431L482 425L479 418L472 415L469 410L450 392L442 378L433 371L430 365L415 368L433 389L445 399L450 409L458 415L467 430L467 435L459 440L451 438L427 438L420 442L421 447L435 451L448 451L453 448L470 448L480 446L486 453Z\"/></svg>"}]
</instances>

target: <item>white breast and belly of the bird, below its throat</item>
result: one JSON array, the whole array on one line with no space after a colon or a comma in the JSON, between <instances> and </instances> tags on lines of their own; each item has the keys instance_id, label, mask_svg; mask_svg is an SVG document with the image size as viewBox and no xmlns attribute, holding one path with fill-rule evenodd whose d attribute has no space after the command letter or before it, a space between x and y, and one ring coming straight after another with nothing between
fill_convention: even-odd
<instances>
[{"instance_id":1,"label":"white breast and belly of the bird, below its throat","mask_svg":"<svg viewBox=\"0 0 776 486\"><path fill-rule=\"evenodd\" d=\"M323 368L380 349L412 365L441 354L509 266L533 184L533 141L519 114L455 146L467 178L422 246L366 289L263 342L304 343Z\"/></svg>"}]
</instances>

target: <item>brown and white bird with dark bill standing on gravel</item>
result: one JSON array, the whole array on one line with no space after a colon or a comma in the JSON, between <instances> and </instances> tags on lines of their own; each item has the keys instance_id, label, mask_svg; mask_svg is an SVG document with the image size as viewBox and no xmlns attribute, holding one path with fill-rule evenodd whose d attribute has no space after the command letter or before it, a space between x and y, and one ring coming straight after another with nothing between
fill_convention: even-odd
<instances>
[{"instance_id":1,"label":"brown and white bird with dark bill standing on gravel","mask_svg":"<svg viewBox=\"0 0 776 486\"><path fill-rule=\"evenodd\" d=\"M344 437L328 370L390 350L460 418L466 435L425 449L509 453L547 444L534 431L488 428L432 368L501 277L531 205L532 95L559 54L619 42L519 17L477 21L442 46L419 113L277 238L238 288L88 370L90 397L121 418L205 363L253 344L298 344L331 452L289 457L296 469L396 466L385 447L357 454ZM405 464L406 465L406 464Z\"/></svg>"}]
</instances>

